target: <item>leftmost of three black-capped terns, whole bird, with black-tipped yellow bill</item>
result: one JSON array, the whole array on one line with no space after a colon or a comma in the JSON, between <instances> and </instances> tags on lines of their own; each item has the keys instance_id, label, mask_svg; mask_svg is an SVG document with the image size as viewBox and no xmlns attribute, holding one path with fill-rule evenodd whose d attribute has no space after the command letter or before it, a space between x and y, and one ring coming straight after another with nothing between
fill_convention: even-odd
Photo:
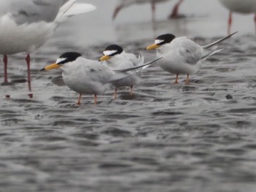
<instances>
[{"instance_id":1,"label":"leftmost of three black-capped terns, whole bird, with black-tipped yellow bill","mask_svg":"<svg viewBox=\"0 0 256 192\"><path fill-rule=\"evenodd\" d=\"M154 60L157 61L160 58ZM77 104L80 104L82 94L94 94L94 104L97 104L97 95L104 93L110 83L129 78L127 73L153 64L154 61L140 66L112 70L99 61L83 58L80 53L67 52L62 54L56 63L45 66L41 70L61 69L66 85L79 93Z\"/></svg>"}]
</instances>

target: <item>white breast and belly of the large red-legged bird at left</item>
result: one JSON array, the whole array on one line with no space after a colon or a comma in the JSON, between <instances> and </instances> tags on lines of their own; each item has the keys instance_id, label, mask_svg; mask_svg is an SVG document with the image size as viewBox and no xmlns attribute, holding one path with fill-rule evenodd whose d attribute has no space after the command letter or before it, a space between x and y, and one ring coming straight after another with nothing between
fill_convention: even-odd
<instances>
[{"instance_id":1,"label":"white breast and belly of the large red-legged bird at left","mask_svg":"<svg viewBox=\"0 0 256 192\"><path fill-rule=\"evenodd\" d=\"M23 23L17 25L9 15L0 18L0 53L14 54L32 51L52 36L55 23Z\"/></svg>"}]
</instances>

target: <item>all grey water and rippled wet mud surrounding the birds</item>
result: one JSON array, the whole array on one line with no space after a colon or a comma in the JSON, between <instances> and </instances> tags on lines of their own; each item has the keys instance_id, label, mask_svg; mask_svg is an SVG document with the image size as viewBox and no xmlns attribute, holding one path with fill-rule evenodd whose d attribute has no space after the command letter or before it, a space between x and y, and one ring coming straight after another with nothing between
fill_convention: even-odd
<instances>
[{"instance_id":1,"label":"all grey water and rippled wet mud surrounding the birds","mask_svg":"<svg viewBox=\"0 0 256 192\"><path fill-rule=\"evenodd\" d=\"M111 20L116 1L87 1L95 12L70 18L31 53L34 99L26 83L1 86L0 191L212 191L256 188L255 28L253 15L234 15L236 36L204 62L185 85L157 65L143 72L135 94L127 88L83 96L61 83L56 71L39 72L61 53L97 59L105 46L127 52L159 34L186 35L200 45L226 35L227 10L218 1L184 1L185 18L166 20L175 1L133 6ZM10 80L26 78L23 53L12 55ZM3 79L3 65L0 66ZM11 99L5 99L6 94ZM227 99L230 95L233 99Z\"/></svg>"}]
</instances>

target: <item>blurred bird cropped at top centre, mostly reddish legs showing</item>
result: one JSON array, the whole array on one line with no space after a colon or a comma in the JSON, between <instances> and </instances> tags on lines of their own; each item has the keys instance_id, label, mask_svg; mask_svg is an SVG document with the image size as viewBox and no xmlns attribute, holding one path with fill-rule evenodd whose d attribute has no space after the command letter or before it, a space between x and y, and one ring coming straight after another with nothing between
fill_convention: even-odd
<instances>
[{"instance_id":1,"label":"blurred bird cropped at top centre, mostly reddish legs showing","mask_svg":"<svg viewBox=\"0 0 256 192\"><path fill-rule=\"evenodd\" d=\"M118 12L121 11L121 9L125 7L129 7L132 4L146 4L146 3L151 3L151 10L152 10L152 20L154 20L154 12L155 12L155 4L164 2L164 1L170 1L170 0L119 0L118 4L113 12L113 20L116 18L118 15ZM178 0L178 2L175 4L173 7L172 12L170 13L168 18L178 18L178 7L184 0Z\"/></svg>"}]
</instances>

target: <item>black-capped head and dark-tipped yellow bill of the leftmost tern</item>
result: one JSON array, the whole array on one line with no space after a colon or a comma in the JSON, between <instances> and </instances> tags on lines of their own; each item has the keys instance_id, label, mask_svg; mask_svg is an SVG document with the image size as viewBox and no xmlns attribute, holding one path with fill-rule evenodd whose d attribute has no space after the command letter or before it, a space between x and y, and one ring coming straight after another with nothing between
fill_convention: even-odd
<instances>
[{"instance_id":1,"label":"black-capped head and dark-tipped yellow bill of the leftmost tern","mask_svg":"<svg viewBox=\"0 0 256 192\"><path fill-rule=\"evenodd\" d=\"M69 62L75 61L80 56L82 55L76 52L63 53L62 55L59 56L59 58L56 60L55 63L45 66L45 68L41 70L57 69L61 66L64 66L65 64L68 64Z\"/></svg>"}]
</instances>

